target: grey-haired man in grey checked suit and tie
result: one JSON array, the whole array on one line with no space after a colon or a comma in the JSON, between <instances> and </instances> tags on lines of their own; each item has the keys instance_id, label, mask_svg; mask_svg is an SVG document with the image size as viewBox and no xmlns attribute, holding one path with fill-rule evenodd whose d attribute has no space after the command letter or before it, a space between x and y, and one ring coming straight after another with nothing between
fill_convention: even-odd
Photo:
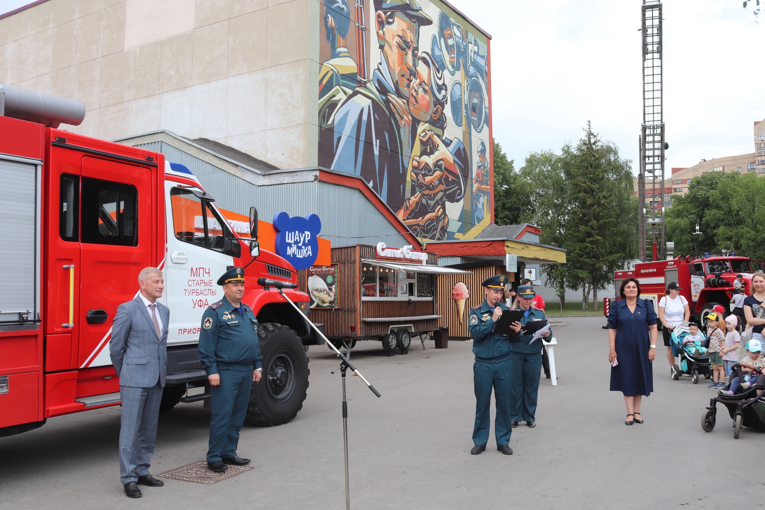
<instances>
[{"instance_id":1,"label":"grey-haired man in grey checked suit and tie","mask_svg":"<svg viewBox=\"0 0 765 510\"><path fill-rule=\"evenodd\" d=\"M138 296L117 307L109 342L122 397L119 479L130 498L141 497L138 484L164 486L148 473L148 467L157 440L159 404L168 364L170 309L157 300L164 291L162 271L142 269L138 285Z\"/></svg>"}]
</instances>

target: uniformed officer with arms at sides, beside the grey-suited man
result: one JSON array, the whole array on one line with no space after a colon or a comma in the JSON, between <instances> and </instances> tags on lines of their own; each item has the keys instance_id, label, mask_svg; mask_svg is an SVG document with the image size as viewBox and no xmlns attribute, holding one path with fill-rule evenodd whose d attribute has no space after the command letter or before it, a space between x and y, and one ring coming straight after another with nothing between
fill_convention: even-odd
<instances>
[{"instance_id":1,"label":"uniformed officer with arms at sides, beside the grey-suited man","mask_svg":"<svg viewBox=\"0 0 765 510\"><path fill-rule=\"evenodd\" d=\"M199 359L210 380L210 447L207 468L216 473L226 464L244 466L249 459L236 454L239 430L249 404L252 382L262 374L258 320L242 303L244 269L231 268L218 278L223 285L222 300L202 315Z\"/></svg>"}]
</instances>

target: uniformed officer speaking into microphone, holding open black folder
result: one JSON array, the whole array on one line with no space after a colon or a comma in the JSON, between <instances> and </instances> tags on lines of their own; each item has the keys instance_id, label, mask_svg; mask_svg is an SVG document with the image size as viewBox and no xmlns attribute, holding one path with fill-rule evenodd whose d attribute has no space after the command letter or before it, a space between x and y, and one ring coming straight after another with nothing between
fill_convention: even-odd
<instances>
[{"instance_id":1,"label":"uniformed officer speaking into microphone, holding open black folder","mask_svg":"<svg viewBox=\"0 0 765 510\"><path fill-rule=\"evenodd\" d=\"M509 310L502 302L508 278L497 274L483 282L486 287L486 300L483 304L470 309L468 328L473 337L473 385L476 394L476 422L473 428L473 455L486 450L489 440L489 408L491 390L494 388L496 418L494 419L494 437L496 449L505 455L513 455L509 447L510 434L510 339L509 335L494 333L497 320L504 310Z\"/></svg>"}]
</instances>

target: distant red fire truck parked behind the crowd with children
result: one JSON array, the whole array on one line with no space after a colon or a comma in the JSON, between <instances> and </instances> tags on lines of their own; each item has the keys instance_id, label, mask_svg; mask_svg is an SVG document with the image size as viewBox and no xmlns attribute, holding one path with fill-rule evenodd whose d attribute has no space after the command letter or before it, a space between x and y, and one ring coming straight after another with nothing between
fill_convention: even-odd
<instances>
[{"instance_id":1,"label":"distant red fire truck parked behind the crowd with children","mask_svg":"<svg viewBox=\"0 0 765 510\"><path fill-rule=\"evenodd\" d=\"M690 305L691 319L701 324L702 317L715 305L730 310L733 281L738 274L743 276L744 290L751 294L753 270L762 267L762 264L762 261L747 257L694 258L693 255L680 255L672 260L641 262L634 269L615 271L614 287L618 293L622 281L637 278L640 297L653 300L653 307L658 309L667 284L676 281L682 287L680 294Z\"/></svg>"}]
</instances>

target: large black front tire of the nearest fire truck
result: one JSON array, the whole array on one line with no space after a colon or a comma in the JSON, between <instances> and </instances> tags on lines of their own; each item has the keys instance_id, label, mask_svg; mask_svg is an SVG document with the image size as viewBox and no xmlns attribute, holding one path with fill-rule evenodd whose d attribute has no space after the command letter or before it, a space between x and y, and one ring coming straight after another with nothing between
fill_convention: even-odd
<instances>
[{"instance_id":1,"label":"large black front tire of the nearest fire truck","mask_svg":"<svg viewBox=\"0 0 765 510\"><path fill-rule=\"evenodd\" d=\"M308 356L295 331L278 323L258 328L263 376L252 383L246 421L271 427L290 421L303 408L308 391Z\"/></svg>"}]
</instances>

